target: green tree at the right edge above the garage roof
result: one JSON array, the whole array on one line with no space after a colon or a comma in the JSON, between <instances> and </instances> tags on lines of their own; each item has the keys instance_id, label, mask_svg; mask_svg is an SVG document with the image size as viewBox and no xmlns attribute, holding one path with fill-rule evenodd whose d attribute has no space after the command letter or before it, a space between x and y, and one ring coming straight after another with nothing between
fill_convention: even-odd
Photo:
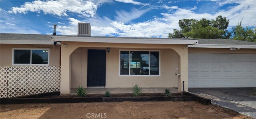
<instances>
[{"instance_id":1,"label":"green tree at the right edge above the garage roof","mask_svg":"<svg viewBox=\"0 0 256 119\"><path fill-rule=\"evenodd\" d=\"M233 39L256 42L256 27L242 26L242 20L232 28Z\"/></svg>"}]
</instances>

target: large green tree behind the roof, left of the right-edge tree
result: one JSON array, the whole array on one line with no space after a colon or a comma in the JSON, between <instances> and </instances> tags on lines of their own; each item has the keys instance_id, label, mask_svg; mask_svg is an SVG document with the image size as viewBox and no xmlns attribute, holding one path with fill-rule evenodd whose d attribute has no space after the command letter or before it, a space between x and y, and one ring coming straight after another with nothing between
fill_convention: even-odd
<instances>
[{"instance_id":1,"label":"large green tree behind the roof, left of the right-edge tree","mask_svg":"<svg viewBox=\"0 0 256 119\"><path fill-rule=\"evenodd\" d=\"M174 29L173 33L168 33L169 38L229 38L229 20L226 17L217 16L216 20L183 19L179 20L181 30Z\"/></svg>"}]
</instances>

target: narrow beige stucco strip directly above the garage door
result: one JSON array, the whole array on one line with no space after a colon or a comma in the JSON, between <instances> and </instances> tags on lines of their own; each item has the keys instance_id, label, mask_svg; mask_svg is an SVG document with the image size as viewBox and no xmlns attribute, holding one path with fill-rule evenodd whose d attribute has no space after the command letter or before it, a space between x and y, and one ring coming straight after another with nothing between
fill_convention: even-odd
<instances>
[{"instance_id":1,"label":"narrow beige stucco strip directly above the garage door","mask_svg":"<svg viewBox=\"0 0 256 119\"><path fill-rule=\"evenodd\" d=\"M236 49L230 51L229 48L188 48L188 53L245 53L245 54L256 54L256 49Z\"/></svg>"}]
</instances>

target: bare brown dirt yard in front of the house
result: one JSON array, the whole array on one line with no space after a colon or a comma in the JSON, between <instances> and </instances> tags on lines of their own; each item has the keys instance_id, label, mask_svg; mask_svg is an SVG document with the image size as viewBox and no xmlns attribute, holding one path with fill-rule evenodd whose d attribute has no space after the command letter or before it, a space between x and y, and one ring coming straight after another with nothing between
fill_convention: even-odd
<instances>
[{"instance_id":1,"label":"bare brown dirt yard in front of the house","mask_svg":"<svg viewBox=\"0 0 256 119\"><path fill-rule=\"evenodd\" d=\"M1 105L1 119L250 119L197 101L146 101Z\"/></svg>"}]
</instances>

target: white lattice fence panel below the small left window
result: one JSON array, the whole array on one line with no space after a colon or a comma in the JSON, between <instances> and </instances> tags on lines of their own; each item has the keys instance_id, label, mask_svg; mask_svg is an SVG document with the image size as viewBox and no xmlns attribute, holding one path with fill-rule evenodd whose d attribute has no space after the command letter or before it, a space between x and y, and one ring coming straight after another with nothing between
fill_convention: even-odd
<instances>
[{"instance_id":1,"label":"white lattice fence panel below the small left window","mask_svg":"<svg viewBox=\"0 0 256 119\"><path fill-rule=\"evenodd\" d=\"M15 66L0 70L0 98L60 91L60 66Z\"/></svg>"}]
</instances>

